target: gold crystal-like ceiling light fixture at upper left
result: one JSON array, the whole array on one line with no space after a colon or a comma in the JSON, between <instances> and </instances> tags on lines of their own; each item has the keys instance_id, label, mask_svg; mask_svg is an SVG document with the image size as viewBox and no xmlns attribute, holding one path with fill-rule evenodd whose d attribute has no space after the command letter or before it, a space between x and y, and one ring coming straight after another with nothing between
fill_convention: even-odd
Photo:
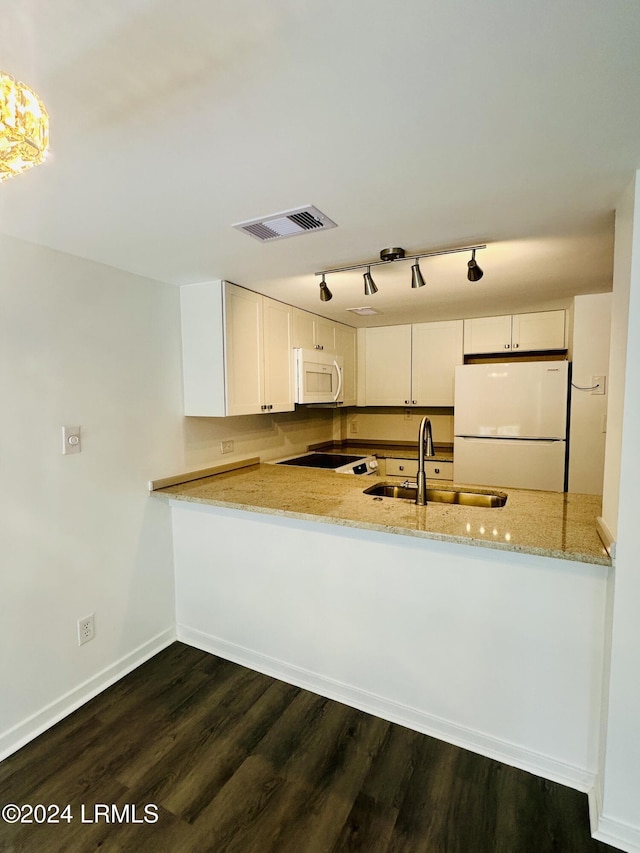
<instances>
[{"instance_id":1,"label":"gold crystal-like ceiling light fixture at upper left","mask_svg":"<svg viewBox=\"0 0 640 853\"><path fill-rule=\"evenodd\" d=\"M36 93L0 71L0 181L37 166L49 148L49 116Z\"/></svg>"}]
</instances>

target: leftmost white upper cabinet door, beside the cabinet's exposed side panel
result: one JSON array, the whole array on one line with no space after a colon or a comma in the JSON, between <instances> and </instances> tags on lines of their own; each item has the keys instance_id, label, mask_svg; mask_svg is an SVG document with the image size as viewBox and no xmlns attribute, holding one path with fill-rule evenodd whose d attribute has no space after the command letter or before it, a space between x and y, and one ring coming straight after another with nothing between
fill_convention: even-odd
<instances>
[{"instance_id":1,"label":"leftmost white upper cabinet door, beside the cabinet's exposed side panel","mask_svg":"<svg viewBox=\"0 0 640 853\"><path fill-rule=\"evenodd\" d=\"M225 282L225 367L228 415L264 411L263 297Z\"/></svg>"}]
</instances>

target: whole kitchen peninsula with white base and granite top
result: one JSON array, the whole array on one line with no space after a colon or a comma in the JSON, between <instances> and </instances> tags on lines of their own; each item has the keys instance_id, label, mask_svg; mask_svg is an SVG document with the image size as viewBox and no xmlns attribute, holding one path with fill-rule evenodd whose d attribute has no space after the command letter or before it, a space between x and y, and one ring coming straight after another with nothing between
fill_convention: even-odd
<instances>
[{"instance_id":1,"label":"whole kitchen peninsula with white base and granite top","mask_svg":"<svg viewBox=\"0 0 640 853\"><path fill-rule=\"evenodd\" d=\"M152 484L170 509L178 639L592 787L611 571L598 498L418 507L364 494L375 474L248 463Z\"/></svg>"}]
</instances>

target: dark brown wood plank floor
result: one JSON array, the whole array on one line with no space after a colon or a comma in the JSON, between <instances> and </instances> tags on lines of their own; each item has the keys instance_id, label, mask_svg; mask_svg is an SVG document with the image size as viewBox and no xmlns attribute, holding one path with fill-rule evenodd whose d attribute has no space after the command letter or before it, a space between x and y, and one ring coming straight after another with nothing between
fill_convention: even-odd
<instances>
[{"instance_id":1,"label":"dark brown wood plank floor","mask_svg":"<svg viewBox=\"0 0 640 853\"><path fill-rule=\"evenodd\" d=\"M2 762L5 803L73 819L0 822L2 853L614 849L584 794L180 643Z\"/></svg>"}]
</instances>

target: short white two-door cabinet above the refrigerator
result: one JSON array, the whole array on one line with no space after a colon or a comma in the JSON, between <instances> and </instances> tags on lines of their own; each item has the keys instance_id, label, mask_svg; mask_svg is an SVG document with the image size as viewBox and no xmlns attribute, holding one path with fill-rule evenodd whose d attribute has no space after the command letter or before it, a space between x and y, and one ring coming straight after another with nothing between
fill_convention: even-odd
<instances>
[{"instance_id":1,"label":"short white two-door cabinet above the refrigerator","mask_svg":"<svg viewBox=\"0 0 640 853\"><path fill-rule=\"evenodd\" d=\"M465 355L563 350L566 346L562 310L464 321Z\"/></svg>"}]
</instances>

